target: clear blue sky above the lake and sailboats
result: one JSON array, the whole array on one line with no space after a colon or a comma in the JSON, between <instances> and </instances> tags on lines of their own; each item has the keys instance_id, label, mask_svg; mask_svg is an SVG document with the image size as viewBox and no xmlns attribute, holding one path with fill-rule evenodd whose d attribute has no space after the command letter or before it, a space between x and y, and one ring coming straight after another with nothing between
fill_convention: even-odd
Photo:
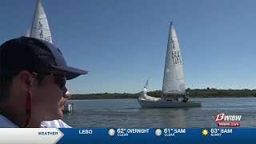
<instances>
[{"instance_id":1,"label":"clear blue sky above the lake and sailboats","mask_svg":"<svg viewBox=\"0 0 256 144\"><path fill-rule=\"evenodd\" d=\"M0 43L25 35L36 0L2 0ZM186 88L256 89L254 0L42 0L53 43L69 66L73 94L162 90L170 22Z\"/></svg>"}]
</instances>

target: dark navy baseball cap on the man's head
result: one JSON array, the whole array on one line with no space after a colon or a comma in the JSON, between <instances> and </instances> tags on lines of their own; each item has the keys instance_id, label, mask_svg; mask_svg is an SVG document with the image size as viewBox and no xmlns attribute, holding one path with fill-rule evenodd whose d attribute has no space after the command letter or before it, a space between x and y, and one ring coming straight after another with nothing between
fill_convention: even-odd
<instances>
[{"instance_id":1,"label":"dark navy baseball cap on the man's head","mask_svg":"<svg viewBox=\"0 0 256 144\"><path fill-rule=\"evenodd\" d=\"M0 46L0 75L20 70L56 71L67 80L88 73L67 66L62 52L50 42L28 37L11 39Z\"/></svg>"}]
</instances>

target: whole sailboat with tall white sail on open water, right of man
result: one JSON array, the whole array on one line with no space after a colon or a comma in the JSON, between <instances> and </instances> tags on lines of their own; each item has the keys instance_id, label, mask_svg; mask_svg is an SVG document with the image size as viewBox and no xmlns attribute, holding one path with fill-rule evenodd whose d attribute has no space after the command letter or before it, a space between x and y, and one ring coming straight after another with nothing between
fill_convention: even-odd
<instances>
[{"instance_id":1,"label":"whole sailboat with tall white sail on open water, right of man","mask_svg":"<svg viewBox=\"0 0 256 144\"><path fill-rule=\"evenodd\" d=\"M155 98L149 96L146 94L147 90L148 80L146 81L140 97L138 98L138 102L143 108L202 106L202 102L199 101L178 101L178 97L186 95L186 88L182 66L182 55L178 45L178 38L174 30L173 22L170 22L170 31L166 50L166 65L162 82L162 97Z\"/></svg>"}]
</instances>

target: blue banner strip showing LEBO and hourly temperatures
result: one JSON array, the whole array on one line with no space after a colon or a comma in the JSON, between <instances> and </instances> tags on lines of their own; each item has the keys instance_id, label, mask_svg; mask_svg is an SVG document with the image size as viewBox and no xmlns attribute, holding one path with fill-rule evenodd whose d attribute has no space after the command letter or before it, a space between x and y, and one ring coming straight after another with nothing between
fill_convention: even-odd
<instances>
[{"instance_id":1,"label":"blue banner strip showing LEBO and hourly temperatures","mask_svg":"<svg viewBox=\"0 0 256 144\"><path fill-rule=\"evenodd\" d=\"M250 128L72 128L57 143L255 143L256 129Z\"/></svg>"}]
</instances>

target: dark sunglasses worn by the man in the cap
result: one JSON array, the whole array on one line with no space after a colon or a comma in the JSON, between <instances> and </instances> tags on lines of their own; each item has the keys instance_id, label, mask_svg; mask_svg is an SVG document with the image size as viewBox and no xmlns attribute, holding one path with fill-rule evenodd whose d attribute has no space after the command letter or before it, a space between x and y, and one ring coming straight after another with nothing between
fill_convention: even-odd
<instances>
[{"instance_id":1,"label":"dark sunglasses worn by the man in the cap","mask_svg":"<svg viewBox=\"0 0 256 144\"><path fill-rule=\"evenodd\" d=\"M63 94L66 93L67 89L66 89L66 77L62 74L53 74L53 73L48 73L48 72L44 72L44 73L35 73L36 77L38 78L42 78L44 76L48 76L51 75L54 77L54 83L63 91Z\"/></svg>"}]
</instances>

